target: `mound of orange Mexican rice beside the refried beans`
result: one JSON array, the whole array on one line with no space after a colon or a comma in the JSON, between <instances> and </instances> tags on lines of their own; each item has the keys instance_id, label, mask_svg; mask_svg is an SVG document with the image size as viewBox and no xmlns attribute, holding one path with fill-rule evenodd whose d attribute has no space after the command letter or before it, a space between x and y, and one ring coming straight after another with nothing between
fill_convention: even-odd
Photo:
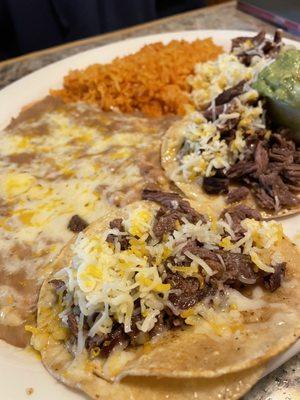
<instances>
[{"instance_id":1,"label":"mound of orange Mexican rice beside the refried beans","mask_svg":"<svg viewBox=\"0 0 300 400\"><path fill-rule=\"evenodd\" d=\"M181 115L190 102L187 76L195 64L214 60L221 52L211 38L153 43L109 64L71 71L64 78L63 88L51 94L65 102L97 104L104 111Z\"/></svg>"}]
</instances>

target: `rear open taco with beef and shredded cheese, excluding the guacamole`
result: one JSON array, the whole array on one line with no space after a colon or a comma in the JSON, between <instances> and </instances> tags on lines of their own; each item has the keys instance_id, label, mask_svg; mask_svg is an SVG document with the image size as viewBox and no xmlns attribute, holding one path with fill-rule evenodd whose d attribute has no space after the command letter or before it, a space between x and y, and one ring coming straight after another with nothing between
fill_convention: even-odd
<instances>
[{"instance_id":1,"label":"rear open taco with beef and shredded cheese, excluding the guacamole","mask_svg":"<svg viewBox=\"0 0 300 400\"><path fill-rule=\"evenodd\" d=\"M230 54L196 67L190 84L198 111L171 126L162 165L188 198L214 211L243 202L264 218L294 214L300 210L299 147L292 132L268 121L267 103L252 87L281 39L246 39L234 39Z\"/></svg>"}]
</instances>

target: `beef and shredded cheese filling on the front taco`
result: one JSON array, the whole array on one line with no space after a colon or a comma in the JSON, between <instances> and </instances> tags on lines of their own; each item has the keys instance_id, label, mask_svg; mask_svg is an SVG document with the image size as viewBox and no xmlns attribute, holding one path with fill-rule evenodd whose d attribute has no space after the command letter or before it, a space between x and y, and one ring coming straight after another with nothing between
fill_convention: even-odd
<instances>
[{"instance_id":1,"label":"beef and shredded cheese filling on the front taco","mask_svg":"<svg viewBox=\"0 0 300 400\"><path fill-rule=\"evenodd\" d=\"M283 232L275 221L261 221L244 205L216 220L175 193L145 190L143 198L159 206L140 202L108 229L80 232L69 264L49 282L76 356L86 351L105 360L116 349L196 326L214 311L221 315L215 333L230 334L225 315L236 332L242 312L263 305L259 293L276 291L284 279L276 250ZM256 299L242 294L251 287Z\"/></svg>"}]
</instances>

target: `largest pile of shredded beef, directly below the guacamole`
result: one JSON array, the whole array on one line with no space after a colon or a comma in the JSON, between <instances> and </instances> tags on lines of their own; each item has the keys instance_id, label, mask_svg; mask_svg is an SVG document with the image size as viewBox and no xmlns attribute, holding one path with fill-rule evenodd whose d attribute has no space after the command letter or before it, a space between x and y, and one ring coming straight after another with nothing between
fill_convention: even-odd
<instances>
[{"instance_id":1,"label":"largest pile of shredded beef, directly below the guacamole","mask_svg":"<svg viewBox=\"0 0 300 400\"><path fill-rule=\"evenodd\" d=\"M249 185L257 204L265 210L278 211L299 204L299 150L285 135L274 133L268 141L257 139L252 152L248 148L246 159L226 173L231 180Z\"/></svg>"}]
</instances>

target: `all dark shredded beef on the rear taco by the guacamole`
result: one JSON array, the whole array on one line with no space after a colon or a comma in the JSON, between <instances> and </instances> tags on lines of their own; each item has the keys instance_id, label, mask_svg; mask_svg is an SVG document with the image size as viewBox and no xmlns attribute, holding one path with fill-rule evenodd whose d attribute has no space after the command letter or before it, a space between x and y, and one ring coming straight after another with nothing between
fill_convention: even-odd
<instances>
[{"instance_id":1,"label":"all dark shredded beef on the rear taco by the guacamole","mask_svg":"<svg viewBox=\"0 0 300 400\"><path fill-rule=\"evenodd\" d=\"M261 31L254 37L238 37L232 40L231 51L245 65L249 66L254 57L275 57L282 46L282 32L277 30L273 40L266 38ZM236 97L245 90L246 81L224 90L204 111L208 121L215 121L221 114L236 112ZM252 104L248 100L247 104ZM257 100L255 100L257 102ZM230 143L235 138L239 117L224 119L217 125L221 138ZM230 183L242 185L240 189L230 191L228 203L244 200L250 192L257 205L268 211L279 211L299 205L300 160L299 148L288 138L288 132L275 132L266 140L266 130L253 127L254 133L246 139L247 144L243 160L236 162L225 172L216 170L215 175L204 177L202 188L208 194L226 194ZM179 159L189 154L188 141L178 154ZM223 176L222 176L223 174Z\"/></svg>"}]
</instances>

